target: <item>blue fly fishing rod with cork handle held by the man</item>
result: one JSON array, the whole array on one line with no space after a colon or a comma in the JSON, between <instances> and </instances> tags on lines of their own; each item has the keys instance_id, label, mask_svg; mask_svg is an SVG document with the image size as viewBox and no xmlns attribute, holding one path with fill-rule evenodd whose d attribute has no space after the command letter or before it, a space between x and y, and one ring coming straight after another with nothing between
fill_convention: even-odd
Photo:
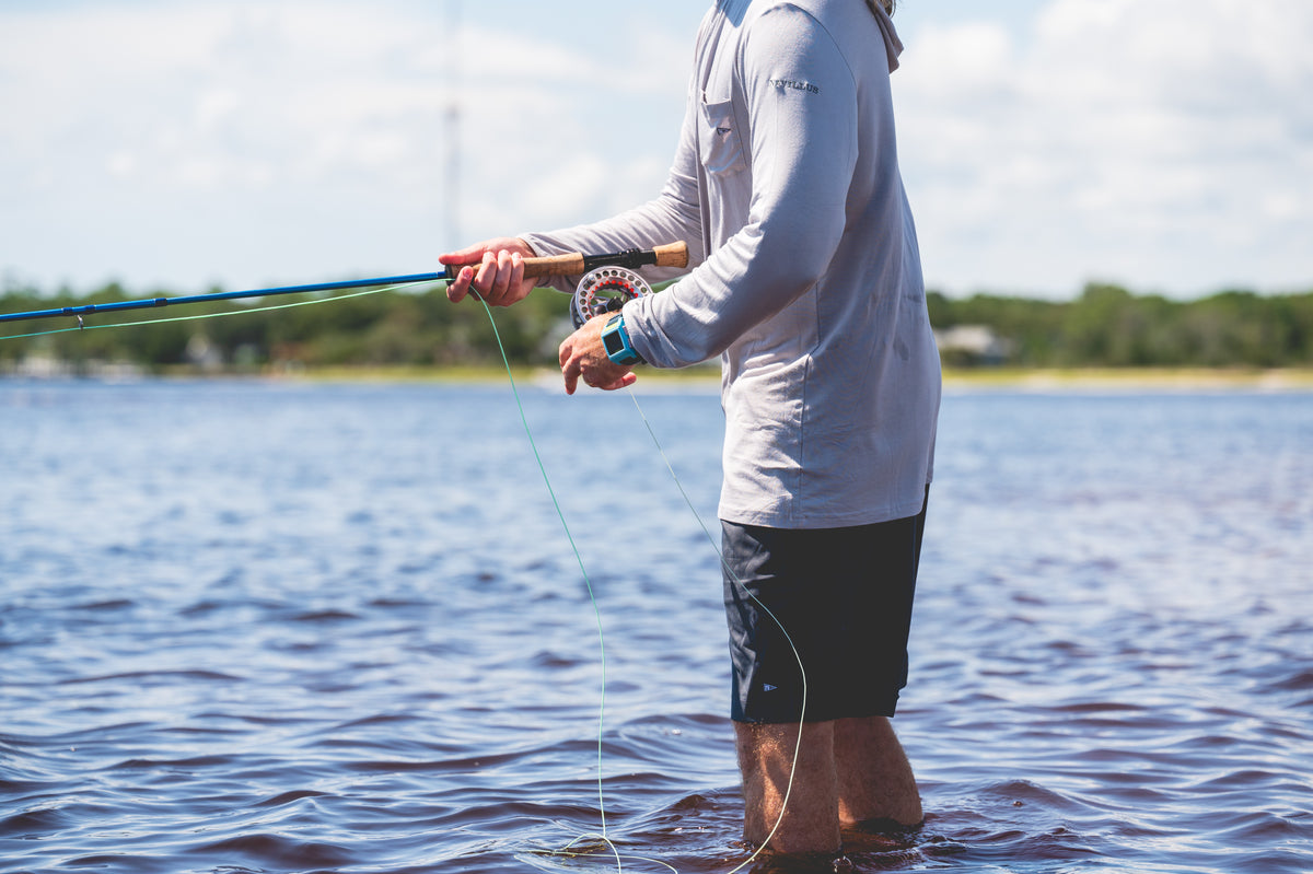
<instances>
[{"instance_id":1,"label":"blue fly fishing rod with cork handle held by the man","mask_svg":"<svg viewBox=\"0 0 1313 874\"><path fill-rule=\"evenodd\" d=\"M280 294L312 294L315 291L343 291L345 289L366 289L382 285L412 285L416 282L452 281L467 264L452 264L441 273L411 273L407 276L386 276L373 280L345 280L341 282L316 282L312 285L288 285L276 289L252 289L248 291L211 291L209 294L189 294L173 298L140 298L135 301L116 301L112 303L85 303L75 307L54 310L32 310L29 312L0 314L0 322L30 322L33 319L54 319L59 316L84 316L93 312L121 312L123 310L150 310L154 307L181 306L186 303L206 303L210 301L236 301L242 298L269 298ZM651 249L625 249L605 255L584 255L570 252L545 257L524 259L524 276L578 276L591 273L604 266L637 269L641 266L688 266L688 245L670 243Z\"/></svg>"}]
</instances>

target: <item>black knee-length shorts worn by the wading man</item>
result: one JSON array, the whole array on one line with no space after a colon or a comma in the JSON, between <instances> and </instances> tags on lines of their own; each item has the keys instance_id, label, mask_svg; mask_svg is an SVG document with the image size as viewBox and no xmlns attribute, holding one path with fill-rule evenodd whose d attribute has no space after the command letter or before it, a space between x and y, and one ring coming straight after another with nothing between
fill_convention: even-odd
<instances>
[{"instance_id":1,"label":"black knee-length shorts worn by the wading man","mask_svg":"<svg viewBox=\"0 0 1313 874\"><path fill-rule=\"evenodd\" d=\"M894 715L907 685L924 526L924 507L918 516L856 528L722 521L730 717L784 723Z\"/></svg>"}]
</instances>

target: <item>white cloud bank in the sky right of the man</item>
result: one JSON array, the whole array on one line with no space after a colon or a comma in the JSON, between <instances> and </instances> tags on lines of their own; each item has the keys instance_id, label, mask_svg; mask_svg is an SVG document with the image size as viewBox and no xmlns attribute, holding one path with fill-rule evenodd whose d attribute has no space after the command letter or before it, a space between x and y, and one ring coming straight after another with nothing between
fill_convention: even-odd
<instances>
[{"instance_id":1,"label":"white cloud bank in the sky right of the man","mask_svg":"<svg viewBox=\"0 0 1313 874\"><path fill-rule=\"evenodd\" d=\"M898 77L928 277L1070 294L1313 286L1313 4L1054 0L922 29ZM1292 232L1299 228L1301 232Z\"/></svg>"}]
</instances>

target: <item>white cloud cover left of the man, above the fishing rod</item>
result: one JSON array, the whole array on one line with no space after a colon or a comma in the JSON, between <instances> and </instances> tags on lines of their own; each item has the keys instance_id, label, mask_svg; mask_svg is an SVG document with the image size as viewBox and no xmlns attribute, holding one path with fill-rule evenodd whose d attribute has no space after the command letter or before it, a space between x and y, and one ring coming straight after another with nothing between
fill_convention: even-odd
<instances>
[{"instance_id":1,"label":"white cloud cover left of the man, above the fishing rod","mask_svg":"<svg viewBox=\"0 0 1313 874\"><path fill-rule=\"evenodd\" d=\"M687 26L641 22L618 54L484 16L453 41L444 5L0 13L0 239L24 241L0 247L0 270L192 287L429 269L456 243L442 238L457 88L462 236L583 220L659 185L674 143L653 131L679 119L647 110L664 92L678 113Z\"/></svg>"}]
</instances>

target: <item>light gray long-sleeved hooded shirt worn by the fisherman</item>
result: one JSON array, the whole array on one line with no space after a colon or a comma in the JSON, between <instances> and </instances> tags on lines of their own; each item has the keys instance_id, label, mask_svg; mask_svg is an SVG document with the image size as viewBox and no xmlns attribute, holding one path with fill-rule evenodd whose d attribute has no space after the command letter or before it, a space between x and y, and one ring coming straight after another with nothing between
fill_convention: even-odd
<instances>
[{"instance_id":1,"label":"light gray long-sleeved hooded shirt worn by the fisherman","mask_svg":"<svg viewBox=\"0 0 1313 874\"><path fill-rule=\"evenodd\" d=\"M660 196L524 235L540 255L689 243L691 272L624 312L654 366L721 357L726 521L840 528L922 508L940 371L898 172L901 50L860 0L720 0Z\"/></svg>"}]
</instances>

